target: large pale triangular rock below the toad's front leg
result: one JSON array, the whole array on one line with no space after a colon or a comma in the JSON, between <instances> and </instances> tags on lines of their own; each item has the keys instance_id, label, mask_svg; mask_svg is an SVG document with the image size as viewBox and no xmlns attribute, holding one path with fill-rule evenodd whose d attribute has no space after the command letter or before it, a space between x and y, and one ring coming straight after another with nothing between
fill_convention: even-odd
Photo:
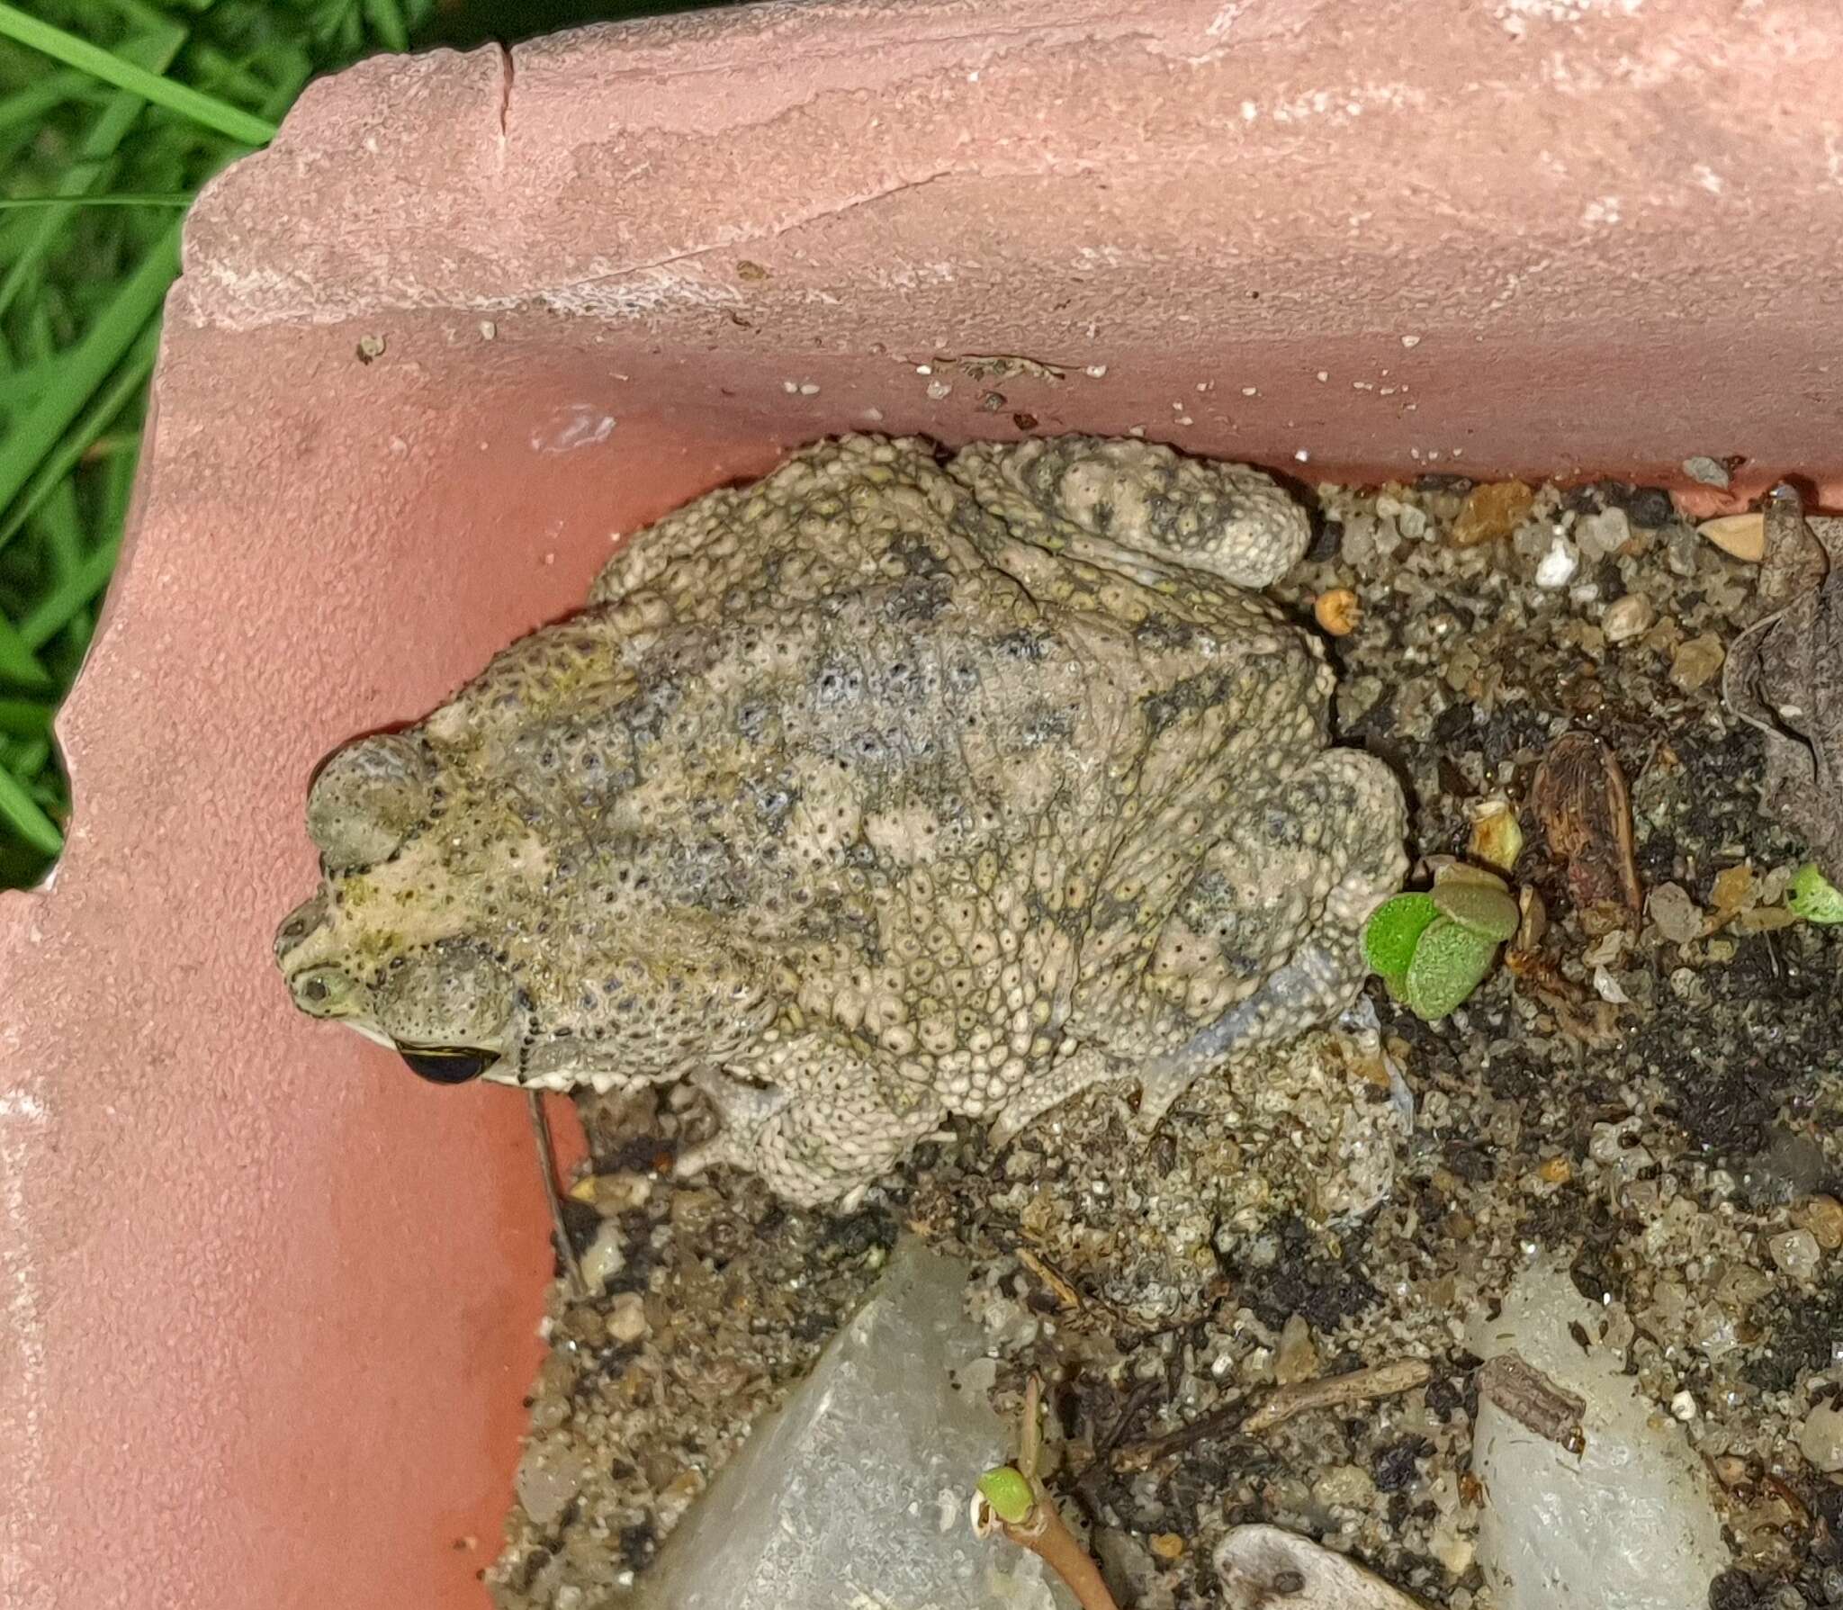
<instances>
[{"instance_id":1,"label":"large pale triangular rock below the toad's front leg","mask_svg":"<svg viewBox=\"0 0 1843 1610\"><path fill-rule=\"evenodd\" d=\"M953 1389L986 1352L968 1266L905 1242L781 1409L641 1577L634 1610L1073 1610L1041 1562L968 1525L1014 1428Z\"/></svg>"}]
</instances>

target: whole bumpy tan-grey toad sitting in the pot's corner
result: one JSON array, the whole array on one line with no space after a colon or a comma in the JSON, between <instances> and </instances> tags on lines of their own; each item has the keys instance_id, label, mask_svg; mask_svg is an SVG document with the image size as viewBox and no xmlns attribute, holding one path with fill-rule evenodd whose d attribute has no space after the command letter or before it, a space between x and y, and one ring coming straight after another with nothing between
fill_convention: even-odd
<instances>
[{"instance_id":1,"label":"whole bumpy tan-grey toad sitting in the pot's corner","mask_svg":"<svg viewBox=\"0 0 1843 1610\"><path fill-rule=\"evenodd\" d=\"M1404 871L1395 779L1327 748L1318 645L1244 591L1307 536L1146 442L807 448L334 755L293 997L437 1074L691 1078L722 1131L687 1166L800 1203L1097 1079L1150 1131L1349 1002Z\"/></svg>"}]
</instances>

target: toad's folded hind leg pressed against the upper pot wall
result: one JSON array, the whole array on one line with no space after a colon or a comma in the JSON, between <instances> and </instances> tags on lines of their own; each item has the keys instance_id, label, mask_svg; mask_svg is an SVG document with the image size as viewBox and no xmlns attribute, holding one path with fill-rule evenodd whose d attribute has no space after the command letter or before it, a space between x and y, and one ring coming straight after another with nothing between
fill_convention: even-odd
<instances>
[{"instance_id":1,"label":"toad's folded hind leg pressed against the upper pot wall","mask_svg":"<svg viewBox=\"0 0 1843 1610\"><path fill-rule=\"evenodd\" d=\"M1305 510L1274 477L1189 459L1159 442L1049 437L964 448L949 473L979 503L1074 558L1145 575L1205 571L1237 588L1277 582L1312 538Z\"/></svg>"}]
</instances>

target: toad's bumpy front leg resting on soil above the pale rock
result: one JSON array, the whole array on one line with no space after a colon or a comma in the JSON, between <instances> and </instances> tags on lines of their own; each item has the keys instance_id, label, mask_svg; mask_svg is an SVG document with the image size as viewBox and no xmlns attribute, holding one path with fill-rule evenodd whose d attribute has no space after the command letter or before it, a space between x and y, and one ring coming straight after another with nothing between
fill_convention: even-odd
<instances>
[{"instance_id":1,"label":"toad's bumpy front leg resting on soil above the pale rock","mask_svg":"<svg viewBox=\"0 0 1843 1610\"><path fill-rule=\"evenodd\" d=\"M722 1131L686 1151L678 1173L730 1162L800 1207L861 1196L947 1116L933 1087L842 1035L798 1035L739 1072L772 1083L700 1076Z\"/></svg>"}]
</instances>

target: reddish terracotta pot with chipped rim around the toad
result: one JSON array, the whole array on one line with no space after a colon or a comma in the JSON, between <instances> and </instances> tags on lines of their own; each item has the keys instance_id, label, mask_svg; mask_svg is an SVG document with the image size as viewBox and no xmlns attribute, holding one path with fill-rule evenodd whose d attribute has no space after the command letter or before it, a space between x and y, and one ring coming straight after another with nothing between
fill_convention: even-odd
<instances>
[{"instance_id":1,"label":"reddish terracotta pot with chipped rim around the toad","mask_svg":"<svg viewBox=\"0 0 1843 1610\"><path fill-rule=\"evenodd\" d=\"M1836 503L1839 77L1832 0L910 0L308 90L194 212L0 903L0 1601L479 1603L544 1218L516 1096L273 976L321 753L846 427Z\"/></svg>"}]
</instances>

